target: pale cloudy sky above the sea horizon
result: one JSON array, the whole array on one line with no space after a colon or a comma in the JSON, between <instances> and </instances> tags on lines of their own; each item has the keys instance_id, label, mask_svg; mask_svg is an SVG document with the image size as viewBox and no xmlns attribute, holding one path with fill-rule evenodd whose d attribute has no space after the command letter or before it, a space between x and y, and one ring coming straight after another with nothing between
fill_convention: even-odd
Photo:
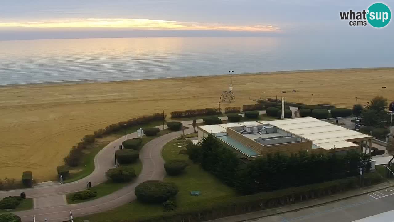
<instances>
[{"instance_id":1,"label":"pale cloudy sky above the sea horizon","mask_svg":"<svg viewBox=\"0 0 394 222\"><path fill-rule=\"evenodd\" d=\"M373 3L368 0L2 0L0 40L392 36L393 24L382 29L351 27L339 19L340 11L362 11ZM394 0L383 3L394 6Z\"/></svg>"}]
</instances>

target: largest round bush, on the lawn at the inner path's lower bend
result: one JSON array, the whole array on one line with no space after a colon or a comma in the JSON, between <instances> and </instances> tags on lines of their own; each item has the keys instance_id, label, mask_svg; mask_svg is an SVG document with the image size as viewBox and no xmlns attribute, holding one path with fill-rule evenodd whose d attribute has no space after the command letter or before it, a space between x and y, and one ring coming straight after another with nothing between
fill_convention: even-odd
<instances>
[{"instance_id":1,"label":"largest round bush, on the lawn at the inner path's lower bend","mask_svg":"<svg viewBox=\"0 0 394 222\"><path fill-rule=\"evenodd\" d=\"M143 203L163 203L178 194L174 183L163 181L145 181L139 184L134 193Z\"/></svg>"}]
</instances>

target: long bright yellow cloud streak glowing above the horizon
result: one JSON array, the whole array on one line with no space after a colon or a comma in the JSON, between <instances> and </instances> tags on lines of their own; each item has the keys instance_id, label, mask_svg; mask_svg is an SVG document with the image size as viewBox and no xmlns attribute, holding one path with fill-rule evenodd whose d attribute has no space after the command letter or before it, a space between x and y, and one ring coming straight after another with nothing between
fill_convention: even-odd
<instances>
[{"instance_id":1,"label":"long bright yellow cloud streak glowing above the horizon","mask_svg":"<svg viewBox=\"0 0 394 222\"><path fill-rule=\"evenodd\" d=\"M243 32L279 32L270 24L231 25L222 23L178 22L152 19L61 19L0 23L0 28L133 28L143 30L226 30Z\"/></svg>"}]
</instances>

